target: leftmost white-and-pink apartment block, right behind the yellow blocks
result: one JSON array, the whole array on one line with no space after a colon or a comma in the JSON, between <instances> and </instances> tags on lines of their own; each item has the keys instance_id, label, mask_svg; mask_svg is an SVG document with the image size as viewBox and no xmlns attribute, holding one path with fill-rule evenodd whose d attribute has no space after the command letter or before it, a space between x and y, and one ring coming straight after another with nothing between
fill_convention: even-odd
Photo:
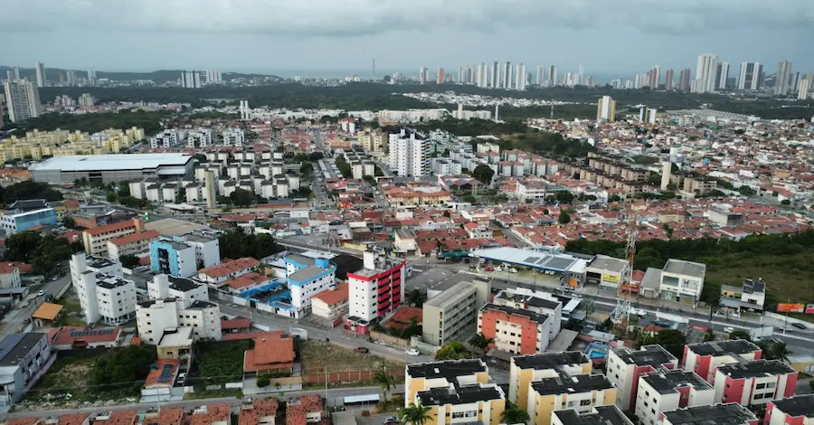
<instances>
[{"instance_id":1,"label":"leftmost white-and-pink apartment block, right behind the yellow blocks","mask_svg":"<svg viewBox=\"0 0 814 425\"><path fill-rule=\"evenodd\" d=\"M636 408L639 392L639 378L645 373L654 373L661 368L677 369L678 359L669 354L661 345L644 345L639 350L614 348L608 353L606 373L619 388L616 404L623 411Z\"/></svg>"}]
</instances>

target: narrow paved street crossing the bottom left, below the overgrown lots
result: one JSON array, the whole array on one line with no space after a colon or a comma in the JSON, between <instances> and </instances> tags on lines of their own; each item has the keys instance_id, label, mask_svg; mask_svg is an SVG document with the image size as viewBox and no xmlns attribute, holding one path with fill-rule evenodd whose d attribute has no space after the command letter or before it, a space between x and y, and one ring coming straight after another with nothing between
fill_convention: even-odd
<instances>
[{"instance_id":1,"label":"narrow paved street crossing the bottom left, below the overgrown lots","mask_svg":"<svg viewBox=\"0 0 814 425\"><path fill-rule=\"evenodd\" d=\"M392 393L399 393L404 392L403 385L397 385ZM329 388L326 390L307 390L307 391L297 391L297 392L286 392L285 395L282 397L282 400L288 401L289 399L299 397L302 395L310 395L310 394L319 394L325 396L327 398L328 406L337 406L342 405L342 399L344 397L353 396L353 395L366 395L366 394L379 394L382 395L382 389L380 387L357 387L357 388ZM268 394L270 396L277 396L277 393ZM261 397L261 398L268 398L268 397ZM234 397L220 397L220 398L212 398L212 399L197 399L197 400L185 400L185 401L168 401L160 404L160 407L181 407L185 410L192 410L197 406L201 406L204 404L213 404L213 403L231 403L232 407L237 407L240 405L241 401L249 401L251 400L250 397L245 397L242 400L236 399ZM156 408L158 405L152 403L131 403L131 404L119 404L116 406L108 406L108 407L86 407L86 408L79 408L79 409L58 409L52 411L20 411L14 413L8 413L5 415L0 415L0 419L6 420L11 418L31 418L31 417L45 417L45 416L59 416L59 415L66 415L71 413L106 413L111 410L116 411L124 411L128 409L136 410L139 413L147 412L148 410Z\"/></svg>"}]
</instances>

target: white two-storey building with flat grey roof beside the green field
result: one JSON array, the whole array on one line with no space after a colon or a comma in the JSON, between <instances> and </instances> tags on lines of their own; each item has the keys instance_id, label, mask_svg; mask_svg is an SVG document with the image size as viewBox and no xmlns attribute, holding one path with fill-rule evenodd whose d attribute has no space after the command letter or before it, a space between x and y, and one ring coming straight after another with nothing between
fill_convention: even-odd
<instances>
[{"instance_id":1,"label":"white two-storey building with flat grey roof beside the green field","mask_svg":"<svg viewBox=\"0 0 814 425\"><path fill-rule=\"evenodd\" d=\"M704 289L705 276L705 264L669 259L661 271L659 297L669 301L695 304Z\"/></svg>"}]
</instances>

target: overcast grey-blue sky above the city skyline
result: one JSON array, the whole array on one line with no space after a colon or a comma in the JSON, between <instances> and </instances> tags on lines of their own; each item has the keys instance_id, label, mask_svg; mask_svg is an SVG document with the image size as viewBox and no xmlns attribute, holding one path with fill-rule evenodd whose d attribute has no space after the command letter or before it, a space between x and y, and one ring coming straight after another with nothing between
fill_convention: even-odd
<instances>
[{"instance_id":1,"label":"overcast grey-blue sky above the city skyline","mask_svg":"<svg viewBox=\"0 0 814 425\"><path fill-rule=\"evenodd\" d=\"M814 71L814 0L3 0L0 64L151 71L435 72L480 61L585 74L700 53Z\"/></svg>"}]
</instances>

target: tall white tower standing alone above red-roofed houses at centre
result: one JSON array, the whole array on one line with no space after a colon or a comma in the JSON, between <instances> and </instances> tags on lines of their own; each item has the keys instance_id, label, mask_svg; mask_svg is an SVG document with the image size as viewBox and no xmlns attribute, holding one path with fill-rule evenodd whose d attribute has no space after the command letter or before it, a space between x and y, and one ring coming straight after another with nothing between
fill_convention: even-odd
<instances>
[{"instance_id":1,"label":"tall white tower standing alone above red-roofed houses at centre","mask_svg":"<svg viewBox=\"0 0 814 425\"><path fill-rule=\"evenodd\" d=\"M421 177L431 172L431 142L412 128L389 135L390 169L401 177Z\"/></svg>"}]
</instances>

